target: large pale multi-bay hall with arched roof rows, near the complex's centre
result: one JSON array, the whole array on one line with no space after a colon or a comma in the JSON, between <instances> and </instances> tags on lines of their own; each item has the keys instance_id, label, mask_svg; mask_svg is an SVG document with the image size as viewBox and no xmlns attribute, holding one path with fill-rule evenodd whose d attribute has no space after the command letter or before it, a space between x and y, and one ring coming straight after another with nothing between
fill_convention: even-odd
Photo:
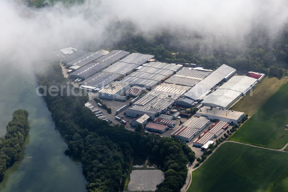
<instances>
[{"instance_id":1,"label":"large pale multi-bay hall with arched roof rows, near the complex's centre","mask_svg":"<svg viewBox=\"0 0 288 192\"><path fill-rule=\"evenodd\" d=\"M150 62L138 68L136 72L129 74L122 81L151 90L179 71L182 65Z\"/></svg>"}]
</instances>

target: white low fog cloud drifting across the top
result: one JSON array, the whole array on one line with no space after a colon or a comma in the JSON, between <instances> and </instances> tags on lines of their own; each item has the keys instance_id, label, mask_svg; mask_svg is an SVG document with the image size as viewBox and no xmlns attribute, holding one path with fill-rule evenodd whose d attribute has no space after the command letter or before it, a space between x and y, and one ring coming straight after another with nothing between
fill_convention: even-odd
<instances>
[{"instance_id":1,"label":"white low fog cloud drifting across the top","mask_svg":"<svg viewBox=\"0 0 288 192\"><path fill-rule=\"evenodd\" d=\"M48 51L67 46L103 46L115 21L130 22L135 33L166 31L183 35L177 43L201 49L245 44L247 35L265 31L271 39L287 25L288 1L85 1L82 5L27 9L11 0L0 2L0 57L22 63L38 61ZM114 28L113 46L123 33ZM254 34L257 36L257 34Z\"/></svg>"}]
</instances>

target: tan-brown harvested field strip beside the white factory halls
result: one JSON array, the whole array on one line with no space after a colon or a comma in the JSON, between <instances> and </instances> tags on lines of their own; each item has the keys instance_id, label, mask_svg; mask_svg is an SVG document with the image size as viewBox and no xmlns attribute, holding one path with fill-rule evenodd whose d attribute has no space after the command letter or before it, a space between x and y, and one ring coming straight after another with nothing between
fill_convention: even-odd
<instances>
[{"instance_id":1,"label":"tan-brown harvested field strip beside the white factory halls","mask_svg":"<svg viewBox=\"0 0 288 192\"><path fill-rule=\"evenodd\" d=\"M254 89L253 94L250 96L248 93L240 101L238 101L233 107L232 110L241 111L245 114L253 114L259 107L267 101L271 95L273 95L279 87L281 87L285 82L286 78L278 79L273 78L264 78Z\"/></svg>"}]
</instances>

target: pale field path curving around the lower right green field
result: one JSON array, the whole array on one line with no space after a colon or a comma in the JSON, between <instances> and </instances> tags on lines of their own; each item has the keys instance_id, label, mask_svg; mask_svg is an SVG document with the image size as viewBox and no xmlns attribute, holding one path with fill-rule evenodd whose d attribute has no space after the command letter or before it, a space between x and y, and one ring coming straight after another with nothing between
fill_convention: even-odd
<instances>
[{"instance_id":1,"label":"pale field path curving around the lower right green field","mask_svg":"<svg viewBox=\"0 0 288 192\"><path fill-rule=\"evenodd\" d=\"M207 159L209 159L209 157L211 157L211 155L212 155L213 153L215 153L215 151L219 148L219 146L221 146L223 143L226 143L226 142L238 143L238 144L248 145L248 146L252 146L252 147L258 147L258 148L262 148L262 149L268 149L268 150L273 150L273 151L282 151L282 152L288 153L288 151L284 151L284 149L288 146L288 143L287 143L282 149L270 149L270 148L266 148L266 147L260 147L260 146L256 146L256 145L251 145L251 144L246 144L246 143L240 143L240 142L237 142L237 141L227 141L227 140L226 140L226 141L223 141L222 143L220 143L220 144L217 146L217 148L215 148L214 151L212 151L212 153L211 153L208 157L206 157L206 159L199 165L199 167L200 167L201 165L203 165L203 163L204 163ZM193 163L193 164L194 164L194 163ZM187 165L188 175L187 175L187 179L186 179L186 184L182 187L181 192L186 192L186 191L189 189L189 187L187 187L187 185L190 186L191 183L192 183L192 172L193 172L194 170L196 170L196 169L199 168L199 167L192 168L192 167L193 167L193 164L188 164L188 165ZM189 175L191 175L190 182L189 182ZM187 182L189 182L189 183L187 183ZM185 189L186 187L187 187L187 189Z\"/></svg>"}]
</instances>

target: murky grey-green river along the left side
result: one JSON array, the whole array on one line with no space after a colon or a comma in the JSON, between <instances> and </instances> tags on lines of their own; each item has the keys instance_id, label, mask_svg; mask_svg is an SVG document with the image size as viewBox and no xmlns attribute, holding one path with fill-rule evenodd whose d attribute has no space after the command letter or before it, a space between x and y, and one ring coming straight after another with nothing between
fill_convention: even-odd
<instances>
[{"instance_id":1,"label":"murky grey-green river along the left side","mask_svg":"<svg viewBox=\"0 0 288 192\"><path fill-rule=\"evenodd\" d=\"M30 114L22 158L5 172L0 191L86 191L81 165L64 154L67 144L55 130L44 99L36 95L33 71L6 63L0 77L0 135L5 134L14 110L24 108Z\"/></svg>"}]
</instances>

